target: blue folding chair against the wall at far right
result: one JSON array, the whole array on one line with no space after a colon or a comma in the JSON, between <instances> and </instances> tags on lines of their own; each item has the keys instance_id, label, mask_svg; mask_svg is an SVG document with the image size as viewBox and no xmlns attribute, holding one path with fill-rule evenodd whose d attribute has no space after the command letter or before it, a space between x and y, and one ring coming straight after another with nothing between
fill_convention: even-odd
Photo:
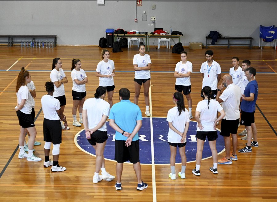
<instances>
[{"instance_id":1,"label":"blue folding chair against the wall at far right","mask_svg":"<svg viewBox=\"0 0 277 202\"><path fill-rule=\"evenodd\" d=\"M260 48L261 39L262 39L261 50L263 50L263 41L265 42L273 41L273 48L274 48L274 40L275 40L275 50L276 50L277 28L275 27L275 25L272 25L270 27L265 27L260 25L259 48Z\"/></svg>"}]
</instances>

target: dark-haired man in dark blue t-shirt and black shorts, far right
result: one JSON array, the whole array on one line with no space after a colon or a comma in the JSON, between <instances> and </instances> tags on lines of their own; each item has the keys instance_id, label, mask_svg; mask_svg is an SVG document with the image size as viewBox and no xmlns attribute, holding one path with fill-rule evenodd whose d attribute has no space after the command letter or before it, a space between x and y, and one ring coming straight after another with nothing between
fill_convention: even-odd
<instances>
[{"instance_id":1,"label":"dark-haired man in dark blue t-shirt and black shorts, far right","mask_svg":"<svg viewBox=\"0 0 277 202\"><path fill-rule=\"evenodd\" d=\"M241 119L240 124L244 125L247 130L247 144L246 147L239 150L240 153L252 152L251 146L258 147L257 142L257 128L255 125L254 113L256 110L256 100L258 98L258 83L255 80L256 69L249 67L245 70L245 76L249 83L244 89L242 95L242 102L240 105L241 109ZM253 141L251 142L253 135Z\"/></svg>"}]
</instances>

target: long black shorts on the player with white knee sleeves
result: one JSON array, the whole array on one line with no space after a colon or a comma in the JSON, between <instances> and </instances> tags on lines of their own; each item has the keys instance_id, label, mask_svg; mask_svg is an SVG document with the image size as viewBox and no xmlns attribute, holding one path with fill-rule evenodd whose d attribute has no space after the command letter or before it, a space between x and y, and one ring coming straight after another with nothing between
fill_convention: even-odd
<instances>
[{"instance_id":1,"label":"long black shorts on the player with white knee sleeves","mask_svg":"<svg viewBox=\"0 0 277 202\"><path fill-rule=\"evenodd\" d=\"M62 125L60 120L43 119L43 140L53 145L62 143Z\"/></svg>"}]
</instances>

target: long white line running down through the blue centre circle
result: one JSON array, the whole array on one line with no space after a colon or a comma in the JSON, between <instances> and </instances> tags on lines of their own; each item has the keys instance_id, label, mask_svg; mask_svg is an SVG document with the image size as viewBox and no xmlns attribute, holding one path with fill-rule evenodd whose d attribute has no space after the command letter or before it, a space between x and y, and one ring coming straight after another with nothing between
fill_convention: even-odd
<instances>
[{"instance_id":1,"label":"long white line running down through the blue centre circle","mask_svg":"<svg viewBox=\"0 0 277 202\"><path fill-rule=\"evenodd\" d=\"M152 192L153 192L153 202L157 201L156 194L156 174L155 174L155 158L154 158L154 138L153 138L153 120L152 120L152 98L151 98L151 81L149 87L149 105L150 108L150 131L151 131L151 168L152 168Z\"/></svg>"}]
</instances>

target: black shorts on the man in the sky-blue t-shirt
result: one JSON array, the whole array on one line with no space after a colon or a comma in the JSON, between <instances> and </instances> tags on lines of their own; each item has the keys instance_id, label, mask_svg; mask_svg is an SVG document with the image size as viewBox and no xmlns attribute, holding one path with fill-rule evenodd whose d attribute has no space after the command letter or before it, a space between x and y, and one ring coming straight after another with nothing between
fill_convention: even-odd
<instances>
[{"instance_id":1,"label":"black shorts on the man in the sky-blue t-shirt","mask_svg":"<svg viewBox=\"0 0 277 202\"><path fill-rule=\"evenodd\" d=\"M133 141L130 146L125 146L125 140L115 140L114 160L118 163L130 161L139 162L139 140Z\"/></svg>"}]
</instances>

